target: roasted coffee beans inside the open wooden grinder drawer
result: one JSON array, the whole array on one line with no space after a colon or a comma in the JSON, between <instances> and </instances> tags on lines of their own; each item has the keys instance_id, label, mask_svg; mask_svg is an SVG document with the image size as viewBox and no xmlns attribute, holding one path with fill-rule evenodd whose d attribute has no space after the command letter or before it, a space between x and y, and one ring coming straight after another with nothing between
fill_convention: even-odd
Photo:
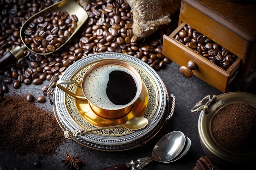
<instances>
[{"instance_id":1,"label":"roasted coffee beans inside the open wooden grinder drawer","mask_svg":"<svg viewBox=\"0 0 256 170\"><path fill-rule=\"evenodd\" d=\"M185 25L175 35L175 39L224 70L227 70L237 59L236 55L194 30L189 25Z\"/></svg>"}]
</instances>

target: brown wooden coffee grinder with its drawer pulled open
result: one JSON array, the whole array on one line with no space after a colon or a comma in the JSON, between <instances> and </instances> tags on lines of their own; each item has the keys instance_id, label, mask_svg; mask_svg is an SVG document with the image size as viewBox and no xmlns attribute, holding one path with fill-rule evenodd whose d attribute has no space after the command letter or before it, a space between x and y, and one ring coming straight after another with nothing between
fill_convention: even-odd
<instances>
[{"instance_id":1,"label":"brown wooden coffee grinder with its drawer pulled open","mask_svg":"<svg viewBox=\"0 0 256 170\"><path fill-rule=\"evenodd\" d=\"M179 26L171 35L164 35L163 54L223 93L227 92L230 82L234 82L239 90L245 90L256 78L256 2L247 1L182 0ZM175 39L184 25L238 58L227 70L209 62Z\"/></svg>"}]
</instances>

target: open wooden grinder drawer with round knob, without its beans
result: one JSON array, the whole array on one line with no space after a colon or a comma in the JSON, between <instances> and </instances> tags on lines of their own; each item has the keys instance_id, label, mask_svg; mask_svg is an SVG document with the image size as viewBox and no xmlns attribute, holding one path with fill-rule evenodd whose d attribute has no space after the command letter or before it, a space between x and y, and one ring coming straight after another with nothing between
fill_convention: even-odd
<instances>
[{"instance_id":1,"label":"open wooden grinder drawer with round knob, without its beans","mask_svg":"<svg viewBox=\"0 0 256 170\"><path fill-rule=\"evenodd\" d=\"M184 77L196 75L222 93L227 92L229 83L236 77L241 59L237 57L227 70L221 68L175 39L184 26L186 24L183 22L171 35L164 35L163 54L181 66L180 72Z\"/></svg>"}]
</instances>

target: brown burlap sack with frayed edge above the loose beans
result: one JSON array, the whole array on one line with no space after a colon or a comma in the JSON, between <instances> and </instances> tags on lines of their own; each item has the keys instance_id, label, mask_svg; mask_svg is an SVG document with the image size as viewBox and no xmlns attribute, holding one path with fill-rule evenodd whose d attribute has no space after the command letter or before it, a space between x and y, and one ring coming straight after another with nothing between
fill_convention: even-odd
<instances>
[{"instance_id":1,"label":"brown burlap sack with frayed edge above the loose beans","mask_svg":"<svg viewBox=\"0 0 256 170\"><path fill-rule=\"evenodd\" d=\"M171 22L170 16L180 9L180 0L126 0L133 9L132 31L145 38L160 26Z\"/></svg>"}]
</instances>

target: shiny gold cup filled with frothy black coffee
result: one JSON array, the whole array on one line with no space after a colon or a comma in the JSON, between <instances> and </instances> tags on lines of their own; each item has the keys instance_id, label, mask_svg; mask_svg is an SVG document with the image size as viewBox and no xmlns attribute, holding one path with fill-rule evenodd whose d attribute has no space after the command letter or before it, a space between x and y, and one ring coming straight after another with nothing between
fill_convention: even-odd
<instances>
[{"instance_id":1,"label":"shiny gold cup filled with frothy black coffee","mask_svg":"<svg viewBox=\"0 0 256 170\"><path fill-rule=\"evenodd\" d=\"M83 95L76 95L61 84L74 84ZM74 80L58 80L56 86L77 100L90 104L100 117L118 119L130 112L139 98L142 81L139 73L119 60L108 60L91 66L81 84Z\"/></svg>"}]
</instances>

